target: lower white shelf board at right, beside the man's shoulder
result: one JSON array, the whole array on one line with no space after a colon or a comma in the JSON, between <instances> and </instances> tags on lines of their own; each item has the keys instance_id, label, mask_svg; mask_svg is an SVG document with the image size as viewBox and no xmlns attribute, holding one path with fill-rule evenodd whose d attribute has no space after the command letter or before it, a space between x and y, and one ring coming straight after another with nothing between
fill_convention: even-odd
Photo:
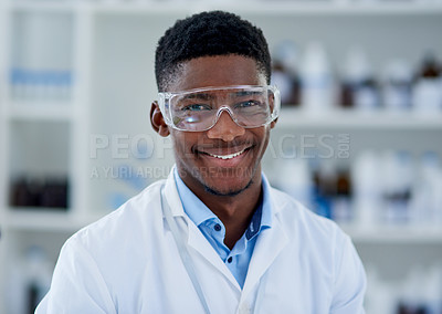
<instances>
[{"instance_id":1,"label":"lower white shelf board at right, beside the man's shoulder","mask_svg":"<svg viewBox=\"0 0 442 314\"><path fill-rule=\"evenodd\" d=\"M358 243L442 244L442 227L359 227L351 224L340 224L340 227Z\"/></svg>"}]
</instances>

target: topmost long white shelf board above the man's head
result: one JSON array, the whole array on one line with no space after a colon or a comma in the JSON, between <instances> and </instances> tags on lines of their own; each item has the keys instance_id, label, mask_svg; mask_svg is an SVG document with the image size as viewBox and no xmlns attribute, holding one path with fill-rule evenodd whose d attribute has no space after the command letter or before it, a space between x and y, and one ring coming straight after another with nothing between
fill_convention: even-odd
<instances>
[{"instance_id":1,"label":"topmost long white shelf board above the man's head","mask_svg":"<svg viewBox=\"0 0 442 314\"><path fill-rule=\"evenodd\" d=\"M126 13L126 14L172 14L193 13L204 10L227 10L236 13L265 14L265 15L421 15L442 14L442 4L439 3L349 3L327 1L225 1L204 2L196 1L138 1L133 3L118 3L117 1L91 4L93 11L98 13Z\"/></svg>"}]
</instances>

